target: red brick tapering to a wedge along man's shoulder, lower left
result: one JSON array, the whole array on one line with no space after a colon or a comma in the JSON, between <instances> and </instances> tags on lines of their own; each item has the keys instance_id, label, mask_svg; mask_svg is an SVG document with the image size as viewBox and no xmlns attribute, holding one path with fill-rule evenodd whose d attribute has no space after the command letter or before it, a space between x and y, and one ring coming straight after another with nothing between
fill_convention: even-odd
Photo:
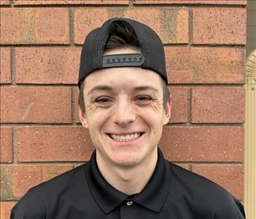
<instances>
[{"instance_id":1,"label":"red brick tapering to a wedge along man's shoulder, lower left","mask_svg":"<svg viewBox=\"0 0 256 219\"><path fill-rule=\"evenodd\" d=\"M12 195L23 196L31 187L72 169L72 165L57 166L13 166Z\"/></svg>"}]
</instances>

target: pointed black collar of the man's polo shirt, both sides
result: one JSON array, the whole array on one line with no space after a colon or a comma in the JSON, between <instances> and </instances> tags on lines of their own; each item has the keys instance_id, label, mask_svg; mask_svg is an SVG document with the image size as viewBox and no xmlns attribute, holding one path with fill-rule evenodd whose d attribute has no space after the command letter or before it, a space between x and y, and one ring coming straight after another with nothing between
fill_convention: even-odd
<instances>
[{"instance_id":1,"label":"pointed black collar of the man's polo shirt, both sides","mask_svg":"<svg viewBox=\"0 0 256 219\"><path fill-rule=\"evenodd\" d=\"M86 180L91 195L106 214L121 202L127 199L128 195L113 188L99 172L96 151L91 155L91 160L85 165ZM159 212L165 203L170 190L170 164L165 161L162 151L158 148L157 166L143 191L135 196L133 201L143 207Z\"/></svg>"}]
</instances>

